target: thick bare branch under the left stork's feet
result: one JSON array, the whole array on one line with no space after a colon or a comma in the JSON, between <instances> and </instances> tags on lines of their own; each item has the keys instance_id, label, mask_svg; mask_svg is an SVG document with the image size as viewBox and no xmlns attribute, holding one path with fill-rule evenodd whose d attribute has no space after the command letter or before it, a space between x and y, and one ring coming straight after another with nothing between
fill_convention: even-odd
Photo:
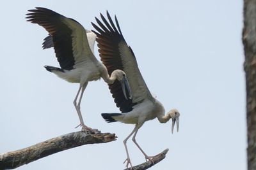
<instances>
[{"instance_id":1,"label":"thick bare branch under the left stork's feet","mask_svg":"<svg viewBox=\"0 0 256 170\"><path fill-rule=\"evenodd\" d=\"M63 150L93 143L107 143L115 141L116 138L115 134L110 133L86 135L81 131L72 132L48 139L47 141L29 146L28 148L0 153L0 169L14 169Z\"/></svg>"}]
</instances>

